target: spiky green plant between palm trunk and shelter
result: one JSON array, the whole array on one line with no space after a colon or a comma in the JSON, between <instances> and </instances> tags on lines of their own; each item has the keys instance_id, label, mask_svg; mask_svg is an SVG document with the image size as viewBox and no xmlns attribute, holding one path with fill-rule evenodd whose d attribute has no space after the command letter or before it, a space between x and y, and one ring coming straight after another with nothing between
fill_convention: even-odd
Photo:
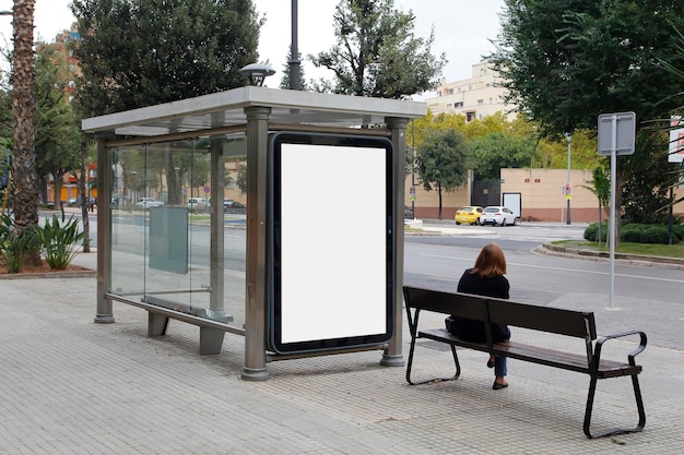
<instances>
[{"instance_id":1,"label":"spiky green plant between palm trunk and shelter","mask_svg":"<svg viewBox=\"0 0 684 455\"><path fill-rule=\"evenodd\" d=\"M51 220L45 220L45 226L35 225L34 231L40 242L45 262L57 271L63 271L71 264L78 254L76 244L85 236L85 232L79 231L79 220L73 215L66 220L64 211L61 212L61 220L52 215Z\"/></svg>"}]
</instances>

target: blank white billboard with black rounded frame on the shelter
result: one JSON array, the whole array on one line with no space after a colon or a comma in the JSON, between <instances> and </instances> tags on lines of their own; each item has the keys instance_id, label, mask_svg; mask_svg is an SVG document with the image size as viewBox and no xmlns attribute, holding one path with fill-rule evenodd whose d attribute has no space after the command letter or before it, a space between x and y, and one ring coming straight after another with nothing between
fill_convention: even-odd
<instances>
[{"instance_id":1,"label":"blank white billboard with black rounded frame on the shelter","mask_svg":"<svg viewBox=\"0 0 684 455\"><path fill-rule=\"evenodd\" d=\"M272 345L292 351L389 339L391 143L283 133L273 154Z\"/></svg>"}]
</instances>

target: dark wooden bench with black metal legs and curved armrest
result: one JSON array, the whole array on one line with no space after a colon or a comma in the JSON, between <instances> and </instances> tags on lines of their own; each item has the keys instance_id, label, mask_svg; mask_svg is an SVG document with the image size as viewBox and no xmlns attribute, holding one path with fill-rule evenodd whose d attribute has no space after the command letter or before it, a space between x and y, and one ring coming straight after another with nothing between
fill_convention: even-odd
<instances>
[{"instance_id":1,"label":"dark wooden bench with black metal legs and curved armrest","mask_svg":"<svg viewBox=\"0 0 684 455\"><path fill-rule=\"evenodd\" d=\"M492 299L481 296L472 296L459 292L443 292L429 289L420 289L404 286L404 301L411 332L411 350L406 366L406 381L409 384L424 384L434 381L456 380L461 373L456 347L475 349L490 355L504 356L511 359L524 360L555 367L569 371L577 371L590 376L589 395L585 411L583 431L587 438L600 438L613 434L638 432L646 424L646 412L639 388L638 374L641 366L635 363L635 357L646 348L646 334L633 331L614 335L597 337L593 313L571 311L558 308L538 307L532 304L516 303L509 300ZM483 343L463 342L447 332L446 328L432 328L418 331L418 318L421 311L443 313L471 320L482 321L485 325L486 340ZM582 354L555 350L543 346L522 344L515 340L493 343L491 323L506 324L512 327L523 327L532 331L541 331L556 335L564 335L583 340ZM638 335L639 346L627 355L627 361L614 361L601 359L603 345L611 339L629 335ZM450 378L435 378L415 382L411 379L415 340L427 338L434 342L446 343L451 347L456 373ZM595 343L594 343L595 342ZM597 381L601 379L632 376L634 395L636 398L639 421L635 428L612 429L592 434L590 431L591 411L593 407Z\"/></svg>"}]
</instances>

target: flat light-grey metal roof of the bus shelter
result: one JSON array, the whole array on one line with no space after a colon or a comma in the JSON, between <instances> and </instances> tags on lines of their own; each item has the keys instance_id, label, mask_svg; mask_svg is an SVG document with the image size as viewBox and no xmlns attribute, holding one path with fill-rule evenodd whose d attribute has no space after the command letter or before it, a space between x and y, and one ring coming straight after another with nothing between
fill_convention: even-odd
<instances>
[{"instance_id":1,"label":"flat light-grey metal roof of the bus shelter","mask_svg":"<svg viewBox=\"0 0 684 455\"><path fill-rule=\"evenodd\" d=\"M244 109L256 106L272 109L272 123L331 128L384 123L388 117L412 119L427 112L427 105L420 101L246 86L84 119L82 129L125 136L201 132L245 124Z\"/></svg>"}]
</instances>

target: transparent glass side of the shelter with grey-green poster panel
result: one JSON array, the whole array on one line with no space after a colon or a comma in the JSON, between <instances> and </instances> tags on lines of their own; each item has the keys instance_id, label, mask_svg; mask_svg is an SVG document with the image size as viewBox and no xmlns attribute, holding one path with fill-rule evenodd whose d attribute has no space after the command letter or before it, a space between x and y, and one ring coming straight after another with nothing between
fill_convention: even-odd
<instances>
[{"instance_id":1,"label":"transparent glass side of the shelter with grey-green poster panel","mask_svg":"<svg viewBox=\"0 0 684 455\"><path fill-rule=\"evenodd\" d=\"M226 188L211 185L212 143L226 156ZM214 149L216 144L214 143ZM111 168L113 294L231 325L245 323L246 215L209 201L244 201L245 137L225 135L118 147ZM223 163L223 161L222 161ZM197 206L196 200L202 201ZM223 217L223 310L210 311L211 217ZM221 289L221 287L217 287Z\"/></svg>"}]
</instances>

